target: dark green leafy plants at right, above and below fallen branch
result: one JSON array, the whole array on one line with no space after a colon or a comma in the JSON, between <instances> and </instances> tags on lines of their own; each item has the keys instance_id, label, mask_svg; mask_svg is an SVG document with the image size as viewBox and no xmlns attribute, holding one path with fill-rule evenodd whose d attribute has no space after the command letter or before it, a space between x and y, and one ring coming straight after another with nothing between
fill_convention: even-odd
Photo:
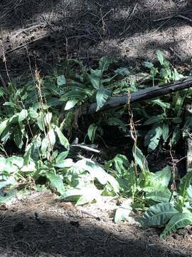
<instances>
[{"instance_id":1,"label":"dark green leafy plants at right, above and below fallen branch","mask_svg":"<svg viewBox=\"0 0 192 257\"><path fill-rule=\"evenodd\" d=\"M144 66L150 70L149 79L152 79L153 84L164 84L184 77L178 74L178 71L171 66L169 61L164 59L161 51L156 51L156 56L161 66L160 69L155 68L154 64L144 62ZM182 122L183 109L190 96L189 89L161 97L161 99L146 101L147 105L142 109L142 114L146 118L144 126L152 126L146 133L144 141L144 145L148 146L148 151L154 151L162 143L163 145L171 143L171 146L178 143L187 123L191 124L191 118L188 118L186 124ZM153 114L151 114L151 106L153 107Z\"/></svg>"}]
</instances>

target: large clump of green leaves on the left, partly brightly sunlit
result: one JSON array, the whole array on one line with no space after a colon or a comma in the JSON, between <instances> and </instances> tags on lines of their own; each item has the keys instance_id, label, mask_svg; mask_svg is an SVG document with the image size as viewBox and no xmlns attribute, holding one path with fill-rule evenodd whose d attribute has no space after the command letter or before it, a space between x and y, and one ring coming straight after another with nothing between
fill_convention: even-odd
<instances>
[{"instance_id":1,"label":"large clump of green leaves on the left, partly brightly sunlit","mask_svg":"<svg viewBox=\"0 0 192 257\"><path fill-rule=\"evenodd\" d=\"M71 79L69 83L64 75L43 81L37 73L35 84L31 82L22 88L9 84L7 91L1 89L0 191L6 186L16 188L18 183L29 186L31 179L38 182L44 178L47 186L55 188L62 198L73 198L76 204L118 193L117 181L102 167L90 160L74 163L68 158L70 143L64 134L68 129L70 109L85 101L86 97L95 94L97 98L97 90L102 90L104 83L102 73L109 65L110 59L100 60L97 79L93 71L90 74L83 71L78 77L82 84ZM86 82L83 81L85 77ZM99 86L97 90L94 83ZM60 119L61 110L63 119ZM6 153L10 142L15 143L19 156L9 157ZM0 201L10 197L2 195Z\"/></svg>"}]
</instances>

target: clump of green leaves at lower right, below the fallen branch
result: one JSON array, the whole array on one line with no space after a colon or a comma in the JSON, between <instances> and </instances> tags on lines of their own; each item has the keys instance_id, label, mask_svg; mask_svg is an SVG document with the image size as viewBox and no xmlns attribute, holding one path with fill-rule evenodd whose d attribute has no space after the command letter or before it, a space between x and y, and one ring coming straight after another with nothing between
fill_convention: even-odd
<instances>
[{"instance_id":1,"label":"clump of green leaves at lower right, below the fallen branch","mask_svg":"<svg viewBox=\"0 0 192 257\"><path fill-rule=\"evenodd\" d=\"M119 182L120 193L127 197L127 201L117 208L114 222L119 223L128 218L132 211L146 210L140 222L143 226L164 227L162 238L176 232L178 228L191 225L192 173L181 178L178 191L172 191L169 166L151 173L139 148L134 153L134 158L137 160L139 173L135 170L135 163L129 163L125 156L117 155L105 164L106 168L111 167L115 171L114 177Z\"/></svg>"}]
</instances>

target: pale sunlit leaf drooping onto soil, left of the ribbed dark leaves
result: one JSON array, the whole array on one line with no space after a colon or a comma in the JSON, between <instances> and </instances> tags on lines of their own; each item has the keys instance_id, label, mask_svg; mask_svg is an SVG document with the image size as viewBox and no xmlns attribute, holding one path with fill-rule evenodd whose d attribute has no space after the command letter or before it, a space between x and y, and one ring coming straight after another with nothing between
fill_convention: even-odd
<instances>
[{"instance_id":1,"label":"pale sunlit leaf drooping onto soil, left of the ribbed dark leaves","mask_svg":"<svg viewBox=\"0 0 192 257\"><path fill-rule=\"evenodd\" d=\"M114 214L114 223L119 224L121 221L124 221L129 217L132 212L132 207L130 206L131 203L132 199L127 199L121 206L119 206L119 208L117 208L117 211Z\"/></svg>"}]
</instances>

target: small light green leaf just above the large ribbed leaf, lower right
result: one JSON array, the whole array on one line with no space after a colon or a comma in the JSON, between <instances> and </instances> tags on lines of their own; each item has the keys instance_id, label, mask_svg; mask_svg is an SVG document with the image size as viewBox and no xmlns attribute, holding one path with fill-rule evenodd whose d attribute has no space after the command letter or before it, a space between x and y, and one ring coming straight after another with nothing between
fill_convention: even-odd
<instances>
[{"instance_id":1,"label":"small light green leaf just above the large ribbed leaf, lower right","mask_svg":"<svg viewBox=\"0 0 192 257\"><path fill-rule=\"evenodd\" d=\"M164 190L161 191L152 191L146 193L146 199L151 199L157 203L169 203L170 198L171 192L168 188L164 188Z\"/></svg>"}]
</instances>

